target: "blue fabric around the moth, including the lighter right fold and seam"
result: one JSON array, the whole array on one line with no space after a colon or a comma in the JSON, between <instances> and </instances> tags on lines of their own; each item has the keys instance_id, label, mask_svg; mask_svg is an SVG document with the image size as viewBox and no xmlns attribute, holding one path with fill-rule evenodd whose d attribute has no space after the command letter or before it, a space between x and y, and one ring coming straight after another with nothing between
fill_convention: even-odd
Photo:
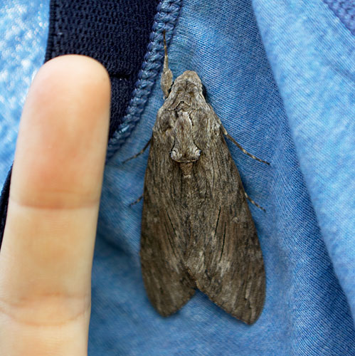
<instances>
[{"instance_id":1,"label":"blue fabric around the moth, including the lighter right fold and seam","mask_svg":"<svg viewBox=\"0 0 355 356\"><path fill-rule=\"evenodd\" d=\"M102 188L89 355L355 355L354 37L322 1L186 0L174 29L176 14L157 16L156 58L147 55L130 124L110 142L120 148L110 151ZM174 30L174 76L196 70L228 132L271 162L228 143L246 192L267 210L250 206L267 275L265 308L252 326L200 292L162 318L144 290L142 203L129 204L142 194L148 152L122 161L149 140L163 103L154 75L163 23L169 39ZM145 80L157 83L142 93Z\"/></svg>"}]
</instances>

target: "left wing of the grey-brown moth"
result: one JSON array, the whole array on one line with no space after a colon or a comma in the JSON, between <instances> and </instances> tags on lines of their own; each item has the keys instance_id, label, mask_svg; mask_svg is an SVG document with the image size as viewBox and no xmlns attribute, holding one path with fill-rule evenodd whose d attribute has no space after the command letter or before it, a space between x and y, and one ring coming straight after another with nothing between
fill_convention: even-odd
<instances>
[{"instance_id":1,"label":"left wing of the grey-brown moth","mask_svg":"<svg viewBox=\"0 0 355 356\"><path fill-rule=\"evenodd\" d=\"M176 199L184 200L184 189L173 192L176 174L179 167L170 159L169 150L153 135L144 179L140 256L149 300L163 316L179 310L196 288L184 266L187 218L186 211L176 211L174 204Z\"/></svg>"}]
</instances>

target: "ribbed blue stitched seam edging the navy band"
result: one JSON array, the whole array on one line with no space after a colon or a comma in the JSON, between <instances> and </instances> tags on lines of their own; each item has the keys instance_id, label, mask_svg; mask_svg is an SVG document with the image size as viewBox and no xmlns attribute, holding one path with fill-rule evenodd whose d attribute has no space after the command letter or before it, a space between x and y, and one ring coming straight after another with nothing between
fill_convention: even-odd
<instances>
[{"instance_id":1,"label":"ribbed blue stitched seam edging the navy band","mask_svg":"<svg viewBox=\"0 0 355 356\"><path fill-rule=\"evenodd\" d=\"M122 147L142 116L147 100L152 93L155 80L160 73L164 58L163 31L166 32L166 41L169 43L176 22L179 19L181 6L182 0L162 0L157 7L148 51L144 57L142 68L139 71L132 99L129 102L122 124L117 128L108 142L106 160L115 155L115 152Z\"/></svg>"}]
</instances>

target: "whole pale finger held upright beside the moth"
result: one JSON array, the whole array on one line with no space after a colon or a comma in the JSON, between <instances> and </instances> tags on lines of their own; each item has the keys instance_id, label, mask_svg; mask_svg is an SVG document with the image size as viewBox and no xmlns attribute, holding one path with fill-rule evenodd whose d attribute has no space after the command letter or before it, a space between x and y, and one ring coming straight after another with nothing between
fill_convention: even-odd
<instances>
[{"instance_id":1,"label":"whole pale finger held upright beside the moth","mask_svg":"<svg viewBox=\"0 0 355 356\"><path fill-rule=\"evenodd\" d=\"M88 355L110 78L85 56L38 71L23 107L0 251L1 355Z\"/></svg>"}]
</instances>

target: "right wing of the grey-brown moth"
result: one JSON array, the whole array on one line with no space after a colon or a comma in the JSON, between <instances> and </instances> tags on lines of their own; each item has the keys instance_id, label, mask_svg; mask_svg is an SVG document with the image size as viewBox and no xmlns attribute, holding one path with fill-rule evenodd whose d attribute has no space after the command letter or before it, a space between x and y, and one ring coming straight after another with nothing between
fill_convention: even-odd
<instances>
[{"instance_id":1,"label":"right wing of the grey-brown moth","mask_svg":"<svg viewBox=\"0 0 355 356\"><path fill-rule=\"evenodd\" d=\"M252 324L265 299L263 254L225 130L206 105L191 112L191 120L205 125L211 120L208 125L220 130L206 142L196 135L196 145L203 149L191 181L196 206L185 264L198 289L235 318Z\"/></svg>"}]
</instances>

